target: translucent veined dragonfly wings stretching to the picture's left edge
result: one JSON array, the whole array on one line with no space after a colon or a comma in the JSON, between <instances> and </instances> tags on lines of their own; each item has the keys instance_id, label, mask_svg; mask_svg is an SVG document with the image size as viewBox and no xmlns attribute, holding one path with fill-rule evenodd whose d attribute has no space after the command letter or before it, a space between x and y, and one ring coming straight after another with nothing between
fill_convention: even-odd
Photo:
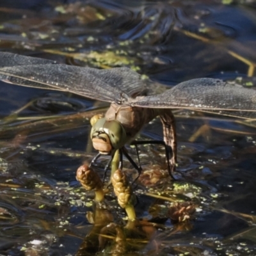
<instances>
[{"instance_id":1,"label":"translucent veined dragonfly wings stretching to the picture's left edge","mask_svg":"<svg viewBox=\"0 0 256 256\"><path fill-rule=\"evenodd\" d=\"M107 102L124 101L144 90L129 68L74 67L55 61L0 52L0 79L7 83L72 92Z\"/></svg>"}]
</instances>

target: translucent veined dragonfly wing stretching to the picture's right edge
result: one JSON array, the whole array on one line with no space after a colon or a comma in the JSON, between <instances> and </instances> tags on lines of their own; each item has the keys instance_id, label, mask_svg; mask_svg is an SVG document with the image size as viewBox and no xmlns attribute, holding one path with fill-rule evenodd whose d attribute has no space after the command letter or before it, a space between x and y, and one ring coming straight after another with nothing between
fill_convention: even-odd
<instances>
[{"instance_id":1,"label":"translucent veined dragonfly wing stretching to the picture's right edge","mask_svg":"<svg viewBox=\"0 0 256 256\"><path fill-rule=\"evenodd\" d=\"M192 79L158 95L138 97L143 108L186 108L220 115L256 118L256 90L220 79Z\"/></svg>"}]
</instances>

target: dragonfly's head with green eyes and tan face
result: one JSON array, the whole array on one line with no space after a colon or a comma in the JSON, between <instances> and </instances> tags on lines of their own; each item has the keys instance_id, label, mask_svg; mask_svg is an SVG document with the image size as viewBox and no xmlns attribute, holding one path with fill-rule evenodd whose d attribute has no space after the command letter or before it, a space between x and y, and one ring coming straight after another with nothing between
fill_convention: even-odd
<instances>
[{"instance_id":1,"label":"dragonfly's head with green eyes and tan face","mask_svg":"<svg viewBox=\"0 0 256 256\"><path fill-rule=\"evenodd\" d=\"M123 147L126 143L126 132L120 122L99 118L92 125L91 139L93 148L100 154L109 155L113 150Z\"/></svg>"}]
</instances>

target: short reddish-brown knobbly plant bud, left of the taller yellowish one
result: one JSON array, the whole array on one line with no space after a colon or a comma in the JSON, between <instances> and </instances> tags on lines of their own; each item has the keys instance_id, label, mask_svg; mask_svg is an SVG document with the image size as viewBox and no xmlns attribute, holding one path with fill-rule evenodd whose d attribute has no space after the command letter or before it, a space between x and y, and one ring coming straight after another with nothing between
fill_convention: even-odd
<instances>
[{"instance_id":1,"label":"short reddish-brown knobbly plant bud, left of the taller yellowish one","mask_svg":"<svg viewBox=\"0 0 256 256\"><path fill-rule=\"evenodd\" d=\"M87 164L81 165L76 172L76 179L81 185L87 190L100 190L102 189L102 181L100 180L97 173L90 170Z\"/></svg>"}]
</instances>

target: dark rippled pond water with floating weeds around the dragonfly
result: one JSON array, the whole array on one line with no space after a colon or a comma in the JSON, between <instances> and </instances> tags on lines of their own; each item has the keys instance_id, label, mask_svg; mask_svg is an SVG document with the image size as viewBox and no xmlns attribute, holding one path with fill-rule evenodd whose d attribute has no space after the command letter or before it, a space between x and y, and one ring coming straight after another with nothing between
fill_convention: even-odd
<instances>
[{"instance_id":1,"label":"dark rippled pond water with floating weeds around the dragonfly","mask_svg":"<svg viewBox=\"0 0 256 256\"><path fill-rule=\"evenodd\" d=\"M132 67L150 77L150 88L197 77L255 86L255 8L254 1L1 1L0 50L85 67ZM97 216L109 223L113 214L123 228L124 211L113 195L108 213L93 208L93 193L76 180L77 167L95 156L88 119L102 107L79 96L3 82L0 92L0 254L114 254L115 243L99 246L104 232L97 229ZM84 110L84 118L76 115ZM255 255L256 129L191 111L175 116L178 170L186 182L173 188L163 180L150 187L157 191L138 182L137 217L158 218L162 226L151 233L142 228L116 255ZM209 129L189 140L202 125ZM140 136L161 138L159 120ZM141 147L141 159L145 170L154 170L153 164L164 161L163 151ZM131 169L129 163L125 168ZM195 220L173 225L164 219L170 202L147 192L191 198ZM94 211L95 225L88 211Z\"/></svg>"}]
</instances>

